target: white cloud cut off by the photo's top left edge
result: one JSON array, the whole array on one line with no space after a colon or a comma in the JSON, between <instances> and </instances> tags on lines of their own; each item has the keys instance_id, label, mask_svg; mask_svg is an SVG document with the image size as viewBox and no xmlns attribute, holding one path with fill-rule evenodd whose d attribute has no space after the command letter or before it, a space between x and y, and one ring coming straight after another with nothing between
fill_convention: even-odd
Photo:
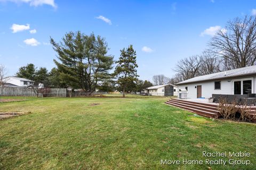
<instances>
[{"instance_id":1,"label":"white cloud cut off by the photo's top left edge","mask_svg":"<svg viewBox=\"0 0 256 170\"><path fill-rule=\"evenodd\" d=\"M29 3L30 6L41 6L41 5L50 5L54 8L57 8L54 0L0 0L0 2L14 2L14 3Z\"/></svg>"}]
</instances>

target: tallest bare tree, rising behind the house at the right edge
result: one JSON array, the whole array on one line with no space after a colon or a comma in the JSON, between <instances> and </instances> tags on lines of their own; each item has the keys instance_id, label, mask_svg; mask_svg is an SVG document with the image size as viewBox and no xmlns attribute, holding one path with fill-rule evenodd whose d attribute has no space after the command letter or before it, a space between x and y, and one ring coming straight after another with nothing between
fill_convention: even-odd
<instances>
[{"instance_id":1,"label":"tallest bare tree, rising behind the house at the right edge","mask_svg":"<svg viewBox=\"0 0 256 170\"><path fill-rule=\"evenodd\" d=\"M229 21L210 43L212 52L223 58L225 70L255 64L256 16L245 16Z\"/></svg>"}]
</instances>

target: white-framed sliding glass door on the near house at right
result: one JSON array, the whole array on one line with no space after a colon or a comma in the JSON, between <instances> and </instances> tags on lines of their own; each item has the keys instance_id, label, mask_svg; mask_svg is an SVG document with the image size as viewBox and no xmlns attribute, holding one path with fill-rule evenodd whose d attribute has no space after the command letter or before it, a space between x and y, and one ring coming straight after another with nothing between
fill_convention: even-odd
<instances>
[{"instance_id":1,"label":"white-framed sliding glass door on the near house at right","mask_svg":"<svg viewBox=\"0 0 256 170\"><path fill-rule=\"evenodd\" d=\"M247 95L253 93L253 78L232 81L233 95Z\"/></svg>"}]
</instances>

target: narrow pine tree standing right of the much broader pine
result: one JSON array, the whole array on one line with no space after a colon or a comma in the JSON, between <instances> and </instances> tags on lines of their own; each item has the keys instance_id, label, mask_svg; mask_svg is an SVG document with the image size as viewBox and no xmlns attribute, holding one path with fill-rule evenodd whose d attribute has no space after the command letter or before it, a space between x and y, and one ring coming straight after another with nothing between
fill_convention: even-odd
<instances>
[{"instance_id":1,"label":"narrow pine tree standing right of the much broader pine","mask_svg":"<svg viewBox=\"0 0 256 170\"><path fill-rule=\"evenodd\" d=\"M136 51L132 45L128 48L120 50L121 55L119 60L116 61L116 68L114 74L117 78L117 83L123 89L123 97L125 97L125 90L131 82L138 80L139 75L137 74L137 63L136 63Z\"/></svg>"}]
</instances>

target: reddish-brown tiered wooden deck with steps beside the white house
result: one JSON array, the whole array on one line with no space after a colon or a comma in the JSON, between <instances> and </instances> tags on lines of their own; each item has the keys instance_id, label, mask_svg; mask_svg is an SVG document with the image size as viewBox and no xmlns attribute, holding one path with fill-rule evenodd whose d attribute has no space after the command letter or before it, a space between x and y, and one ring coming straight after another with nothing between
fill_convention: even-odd
<instances>
[{"instance_id":1,"label":"reddish-brown tiered wooden deck with steps beside the white house","mask_svg":"<svg viewBox=\"0 0 256 170\"><path fill-rule=\"evenodd\" d=\"M205 117L220 117L218 103L209 103L208 99L170 99L165 104L180 107ZM255 115L256 106L251 106L250 112L251 115Z\"/></svg>"}]
</instances>

